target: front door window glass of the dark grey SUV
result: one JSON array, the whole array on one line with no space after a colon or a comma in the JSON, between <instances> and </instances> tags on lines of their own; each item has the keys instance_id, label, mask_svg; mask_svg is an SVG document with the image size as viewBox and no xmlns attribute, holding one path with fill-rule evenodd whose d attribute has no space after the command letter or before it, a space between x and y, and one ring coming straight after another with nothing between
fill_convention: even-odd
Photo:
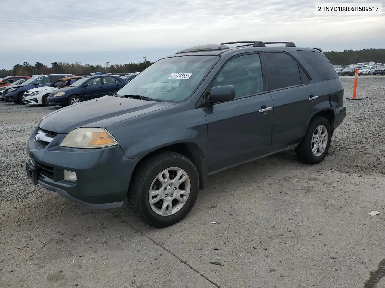
<instances>
[{"instance_id":1,"label":"front door window glass of the dark grey SUV","mask_svg":"<svg viewBox=\"0 0 385 288\"><path fill-rule=\"evenodd\" d=\"M214 79L213 87L232 85L235 98L263 92L261 61L258 54L230 60Z\"/></svg>"}]
</instances>

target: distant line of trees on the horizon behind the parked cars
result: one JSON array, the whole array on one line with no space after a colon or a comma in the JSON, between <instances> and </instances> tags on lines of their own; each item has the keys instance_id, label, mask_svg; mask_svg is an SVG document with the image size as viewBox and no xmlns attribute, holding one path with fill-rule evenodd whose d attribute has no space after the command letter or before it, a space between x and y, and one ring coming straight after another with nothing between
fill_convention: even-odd
<instances>
[{"instance_id":1,"label":"distant line of trees on the horizon behind the parked cars","mask_svg":"<svg viewBox=\"0 0 385 288\"><path fill-rule=\"evenodd\" d=\"M363 50L344 50L340 51L326 51L325 56L333 65L347 65L361 62L374 61L376 63L385 63L385 49L370 48ZM109 67L101 65L82 65L80 62L63 63L52 62L51 66L36 62L35 65L30 65L24 62L22 65L17 64L13 66L12 70L0 70L0 78L10 75L40 75L40 74L90 74L92 72L102 73L134 73L141 72L146 67L152 65L154 62L146 61L140 63L116 64Z\"/></svg>"}]
</instances>

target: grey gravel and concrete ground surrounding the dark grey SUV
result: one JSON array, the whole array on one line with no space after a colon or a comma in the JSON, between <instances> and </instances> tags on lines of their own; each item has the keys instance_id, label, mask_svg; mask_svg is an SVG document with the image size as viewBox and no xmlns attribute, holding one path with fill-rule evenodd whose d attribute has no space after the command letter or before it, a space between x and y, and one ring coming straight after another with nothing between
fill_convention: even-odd
<instances>
[{"instance_id":1,"label":"grey gravel and concrete ground surrounding the dark grey SUV","mask_svg":"<svg viewBox=\"0 0 385 288\"><path fill-rule=\"evenodd\" d=\"M32 185L26 142L57 108L0 101L0 287L385 287L384 92L385 77L358 79L321 164L290 150L210 176L160 230Z\"/></svg>"}]
</instances>

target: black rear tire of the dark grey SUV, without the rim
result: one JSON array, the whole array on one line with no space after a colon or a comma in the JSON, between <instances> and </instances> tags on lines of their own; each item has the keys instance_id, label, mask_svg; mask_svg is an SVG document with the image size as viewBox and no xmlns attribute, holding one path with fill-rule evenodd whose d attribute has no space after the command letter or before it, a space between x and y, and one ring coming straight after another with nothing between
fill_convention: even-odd
<instances>
[{"instance_id":1,"label":"black rear tire of the dark grey SUV, without the rim","mask_svg":"<svg viewBox=\"0 0 385 288\"><path fill-rule=\"evenodd\" d=\"M316 128L323 125L326 128L328 139L326 141L326 147L325 150L323 150L322 154L320 156L316 156L312 152L312 143L311 139L313 138L313 133L315 132ZM316 164L321 162L326 155L328 154L329 147L330 147L330 141L331 141L331 127L328 119L322 116L318 116L311 120L308 129L306 131L305 137L303 137L301 143L295 147L295 152L297 154L297 157L308 164Z\"/></svg>"}]
</instances>

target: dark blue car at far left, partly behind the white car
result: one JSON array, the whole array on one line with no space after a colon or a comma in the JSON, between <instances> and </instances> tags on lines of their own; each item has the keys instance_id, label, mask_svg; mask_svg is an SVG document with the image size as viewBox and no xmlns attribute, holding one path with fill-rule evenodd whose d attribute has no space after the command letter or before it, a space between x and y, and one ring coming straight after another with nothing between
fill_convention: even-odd
<instances>
[{"instance_id":1,"label":"dark blue car at far left, partly behind the white car","mask_svg":"<svg viewBox=\"0 0 385 288\"><path fill-rule=\"evenodd\" d=\"M8 102L25 104L22 101L22 97L25 91L41 86L48 86L49 84L52 84L61 78L69 76L72 76L72 74L51 74L33 76L21 85L14 85L4 89L3 98L5 98L5 100L7 100Z\"/></svg>"}]
</instances>

